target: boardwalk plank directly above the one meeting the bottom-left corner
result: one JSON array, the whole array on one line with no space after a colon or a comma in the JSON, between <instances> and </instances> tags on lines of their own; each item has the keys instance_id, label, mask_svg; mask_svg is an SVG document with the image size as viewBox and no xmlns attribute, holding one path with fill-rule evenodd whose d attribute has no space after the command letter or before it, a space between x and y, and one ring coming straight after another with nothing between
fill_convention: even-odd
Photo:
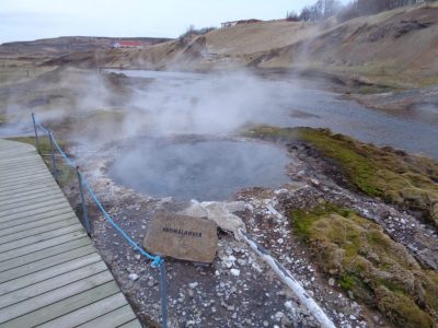
<instances>
[{"instance_id":1,"label":"boardwalk plank directly above the one meeting the bottom-left corner","mask_svg":"<svg viewBox=\"0 0 438 328\"><path fill-rule=\"evenodd\" d=\"M0 297L0 308L10 306L12 304L23 302L27 298L35 297L43 293L47 293L51 290L61 288L69 283L85 279L90 276L94 276L102 271L106 271L107 268L103 261L81 267L77 270L66 272L64 274L56 276L54 278L27 285L20 290L15 290L11 293L4 294Z\"/></svg>"}]
</instances>

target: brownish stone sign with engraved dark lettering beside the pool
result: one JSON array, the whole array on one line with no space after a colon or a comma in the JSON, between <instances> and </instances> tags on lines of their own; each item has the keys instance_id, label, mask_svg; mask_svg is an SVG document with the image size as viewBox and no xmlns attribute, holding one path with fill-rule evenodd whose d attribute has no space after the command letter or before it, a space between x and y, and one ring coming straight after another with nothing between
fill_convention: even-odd
<instances>
[{"instance_id":1,"label":"brownish stone sign with engraved dark lettering beside the pool","mask_svg":"<svg viewBox=\"0 0 438 328\"><path fill-rule=\"evenodd\" d=\"M212 262L218 244L215 222L160 212L148 226L146 250L197 262Z\"/></svg>"}]
</instances>

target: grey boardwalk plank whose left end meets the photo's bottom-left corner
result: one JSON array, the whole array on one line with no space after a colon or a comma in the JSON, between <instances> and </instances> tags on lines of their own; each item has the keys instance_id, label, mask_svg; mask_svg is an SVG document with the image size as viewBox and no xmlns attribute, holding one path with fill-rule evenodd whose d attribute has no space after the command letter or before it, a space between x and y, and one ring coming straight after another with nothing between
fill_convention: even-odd
<instances>
[{"instance_id":1,"label":"grey boardwalk plank whose left end meets the photo's bottom-left corner","mask_svg":"<svg viewBox=\"0 0 438 328\"><path fill-rule=\"evenodd\" d=\"M3 307L0 309L0 323L5 323L8 320L18 318L35 309L54 304L56 302L73 296L78 293L88 291L92 288L104 284L105 282L112 280L113 276L110 273L110 271L103 271L87 279L70 283L66 286L38 295L36 297L28 298L26 301L13 304L8 307Z\"/></svg>"}]
</instances>

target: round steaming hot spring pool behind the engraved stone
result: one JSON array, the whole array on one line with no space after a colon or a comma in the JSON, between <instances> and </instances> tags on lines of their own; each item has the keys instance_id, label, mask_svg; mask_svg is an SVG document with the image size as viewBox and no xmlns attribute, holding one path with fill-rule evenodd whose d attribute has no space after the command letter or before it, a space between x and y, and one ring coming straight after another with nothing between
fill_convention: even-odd
<instances>
[{"instance_id":1,"label":"round steaming hot spring pool behind the engraved stone","mask_svg":"<svg viewBox=\"0 0 438 328\"><path fill-rule=\"evenodd\" d=\"M238 140L137 142L108 166L118 185L154 198L227 200L245 187L290 181L290 157L273 144Z\"/></svg>"}]
</instances>

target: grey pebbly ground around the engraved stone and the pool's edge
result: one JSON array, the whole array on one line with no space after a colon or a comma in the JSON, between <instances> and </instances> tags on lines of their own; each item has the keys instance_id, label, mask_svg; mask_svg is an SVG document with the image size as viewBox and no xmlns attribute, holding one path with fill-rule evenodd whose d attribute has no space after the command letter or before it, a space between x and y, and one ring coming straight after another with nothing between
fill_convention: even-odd
<instances>
[{"instance_id":1,"label":"grey pebbly ground around the engraved stone and the pool's edge","mask_svg":"<svg viewBox=\"0 0 438 328\"><path fill-rule=\"evenodd\" d=\"M291 183L279 189L250 188L235 195L226 213L241 220L246 232L265 247L308 293L314 297L336 327L388 327L385 317L360 304L353 293L345 292L333 278L324 276L312 260L311 251L292 234L288 211L333 202L351 208L365 218L381 224L396 242L405 245L416 259L438 268L438 236L406 212L368 198L343 186L336 171L324 175L326 161L302 143L289 144ZM196 202L172 198L153 199L116 186L105 176L106 156L91 161L93 152L72 148L80 153L83 169L110 214L137 243L141 244L150 220L159 210L189 210ZM88 157L83 157L89 154ZM100 167L99 172L91 167ZM67 190L68 189L68 190ZM77 206L74 188L67 188ZM123 291L147 325L160 320L159 271L150 261L132 250L116 231L92 211L94 242L116 276ZM220 225L220 224L219 224ZM172 327L319 327L292 291L249 245L239 241L232 227L219 230L216 260L211 265L166 259L169 315ZM227 231L228 230L228 231Z\"/></svg>"}]
</instances>

